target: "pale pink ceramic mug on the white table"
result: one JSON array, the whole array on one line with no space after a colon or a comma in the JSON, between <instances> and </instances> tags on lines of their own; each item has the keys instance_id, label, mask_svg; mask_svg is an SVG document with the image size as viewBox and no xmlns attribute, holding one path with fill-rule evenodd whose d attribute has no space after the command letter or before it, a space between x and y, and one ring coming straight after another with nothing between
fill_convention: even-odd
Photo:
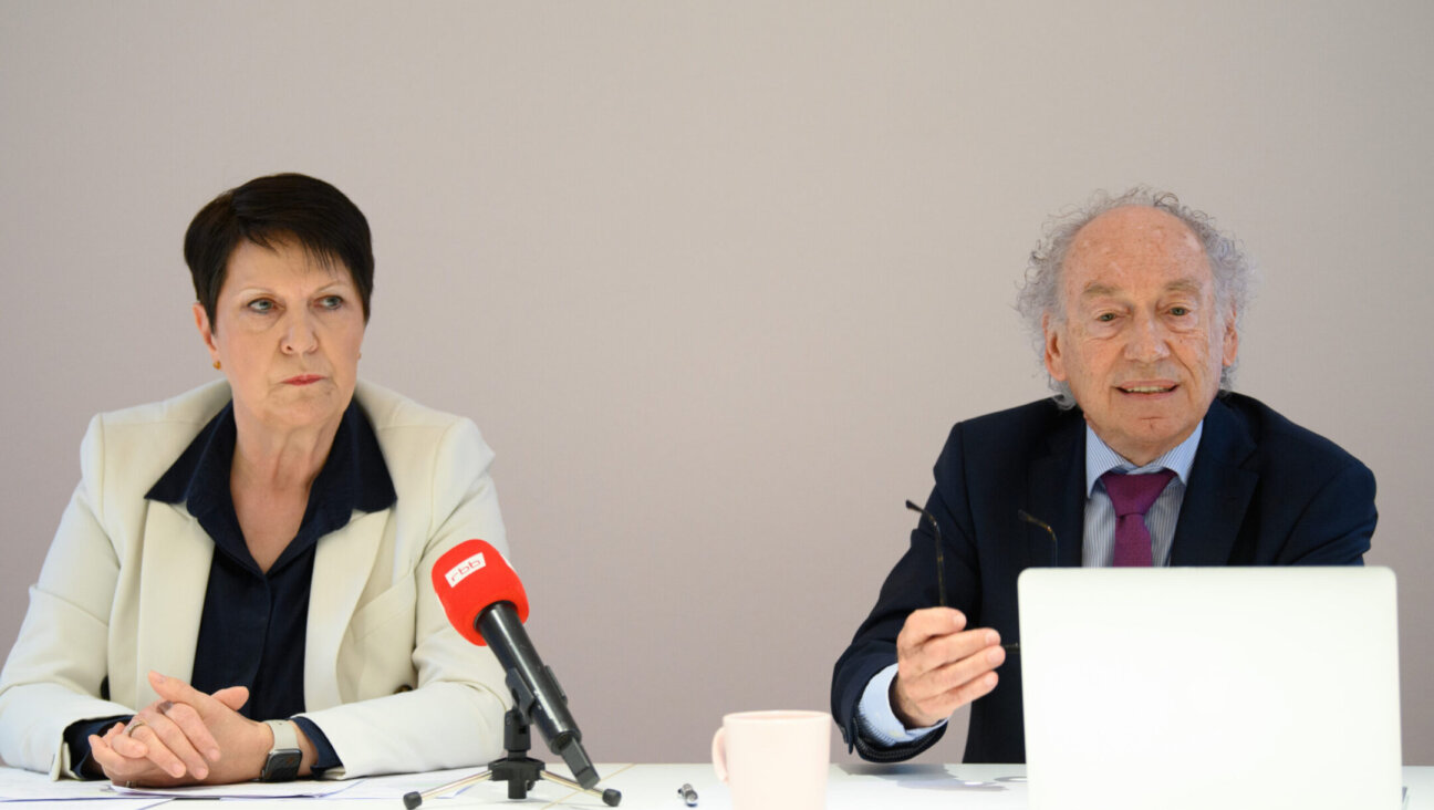
<instances>
[{"instance_id":1,"label":"pale pink ceramic mug on the white table","mask_svg":"<svg viewBox=\"0 0 1434 810\"><path fill-rule=\"evenodd\" d=\"M733 810L822 810L832 751L825 711L739 711L713 735L713 767Z\"/></svg>"}]
</instances>

